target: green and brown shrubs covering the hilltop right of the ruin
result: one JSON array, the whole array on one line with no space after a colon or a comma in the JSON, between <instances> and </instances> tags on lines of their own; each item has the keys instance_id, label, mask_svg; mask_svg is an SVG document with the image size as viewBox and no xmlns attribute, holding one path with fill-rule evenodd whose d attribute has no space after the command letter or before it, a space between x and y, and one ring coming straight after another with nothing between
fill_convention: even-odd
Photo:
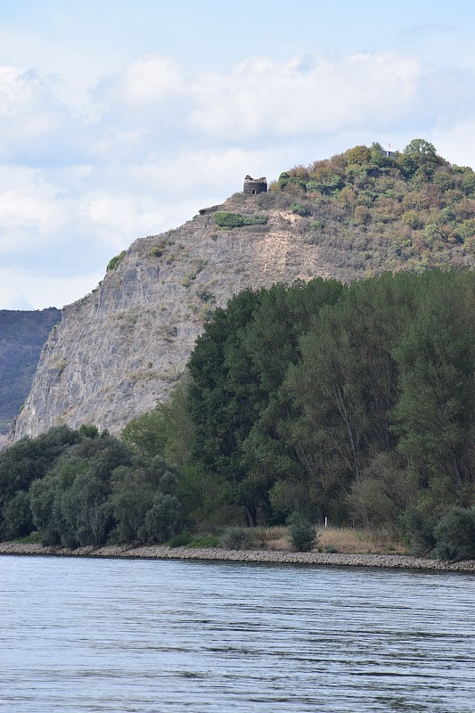
<instances>
[{"instance_id":1,"label":"green and brown shrubs covering the hilltop right of the ruin","mask_svg":"<svg viewBox=\"0 0 475 713\"><path fill-rule=\"evenodd\" d=\"M451 165L423 139L387 153L373 143L296 166L253 203L269 216L293 214L292 233L318 246L344 282L381 270L473 266L473 170Z\"/></svg>"}]
</instances>

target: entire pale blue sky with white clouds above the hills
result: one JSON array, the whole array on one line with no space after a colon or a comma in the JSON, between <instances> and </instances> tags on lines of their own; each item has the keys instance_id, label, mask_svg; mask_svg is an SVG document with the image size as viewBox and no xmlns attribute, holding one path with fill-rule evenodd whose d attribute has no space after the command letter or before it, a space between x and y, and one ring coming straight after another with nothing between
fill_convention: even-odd
<instances>
[{"instance_id":1,"label":"entire pale blue sky with white clouds above the hills","mask_svg":"<svg viewBox=\"0 0 475 713\"><path fill-rule=\"evenodd\" d=\"M0 309L373 141L475 167L474 0L0 0Z\"/></svg>"}]
</instances>

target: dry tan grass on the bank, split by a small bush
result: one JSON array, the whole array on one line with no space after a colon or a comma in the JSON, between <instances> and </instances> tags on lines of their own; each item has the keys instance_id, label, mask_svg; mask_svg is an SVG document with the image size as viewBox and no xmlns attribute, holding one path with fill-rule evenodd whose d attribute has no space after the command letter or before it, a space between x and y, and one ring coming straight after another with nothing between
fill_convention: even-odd
<instances>
[{"instance_id":1,"label":"dry tan grass on the bank, split by a small bush","mask_svg":"<svg viewBox=\"0 0 475 713\"><path fill-rule=\"evenodd\" d=\"M257 528L254 532L259 549L288 551L291 544L287 528ZM389 537L387 533L356 528L318 529L316 552L342 554L407 554L405 545Z\"/></svg>"}]
</instances>

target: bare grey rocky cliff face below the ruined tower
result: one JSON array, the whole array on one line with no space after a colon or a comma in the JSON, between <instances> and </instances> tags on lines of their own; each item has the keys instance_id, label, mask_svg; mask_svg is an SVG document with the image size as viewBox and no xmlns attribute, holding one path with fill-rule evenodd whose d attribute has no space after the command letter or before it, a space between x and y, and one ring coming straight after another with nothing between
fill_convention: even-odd
<instances>
[{"instance_id":1,"label":"bare grey rocky cliff face below the ruined tower","mask_svg":"<svg viewBox=\"0 0 475 713\"><path fill-rule=\"evenodd\" d=\"M257 197L219 209L266 212ZM209 209L134 242L96 291L63 308L10 440L61 423L118 432L168 397L209 310L248 286L334 275L318 245L294 233L295 221L277 210L268 225L221 231Z\"/></svg>"}]
</instances>

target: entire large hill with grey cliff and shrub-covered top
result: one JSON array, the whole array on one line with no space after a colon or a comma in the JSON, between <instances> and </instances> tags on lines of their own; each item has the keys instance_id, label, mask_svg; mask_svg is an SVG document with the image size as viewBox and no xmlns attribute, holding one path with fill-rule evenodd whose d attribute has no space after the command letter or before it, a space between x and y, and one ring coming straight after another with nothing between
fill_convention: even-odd
<instances>
[{"instance_id":1,"label":"entire large hill with grey cliff and shrub-covered top","mask_svg":"<svg viewBox=\"0 0 475 713\"><path fill-rule=\"evenodd\" d=\"M246 287L474 265L475 173L432 144L296 166L112 258L63 309L12 439L59 423L118 432L168 398L213 309Z\"/></svg>"}]
</instances>

